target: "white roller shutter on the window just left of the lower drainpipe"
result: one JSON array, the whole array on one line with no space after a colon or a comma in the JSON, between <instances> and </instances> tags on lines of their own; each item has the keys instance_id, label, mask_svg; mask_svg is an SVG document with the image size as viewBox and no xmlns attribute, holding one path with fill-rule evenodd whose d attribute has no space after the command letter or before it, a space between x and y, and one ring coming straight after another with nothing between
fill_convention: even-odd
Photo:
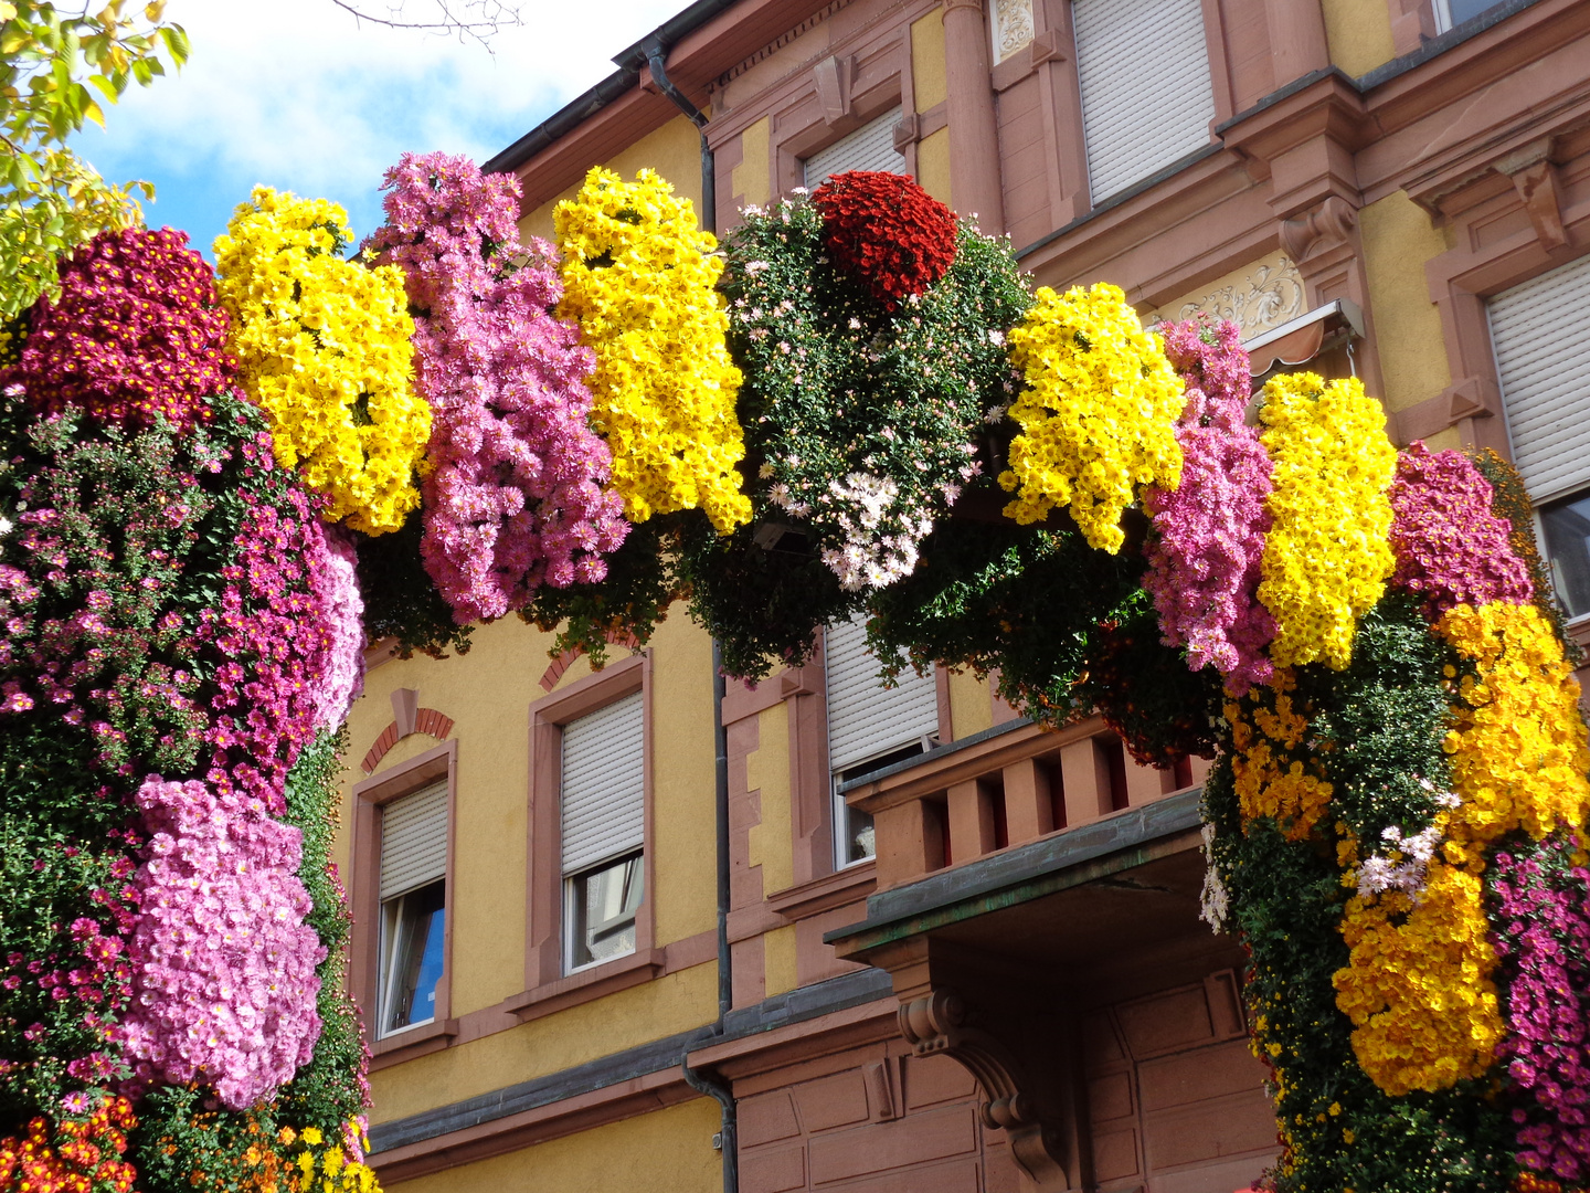
<instances>
[{"instance_id":1,"label":"white roller shutter on the window just left of the lower drainpipe","mask_svg":"<svg viewBox=\"0 0 1590 1193\"><path fill-rule=\"evenodd\" d=\"M563 727L563 873L646 843L644 716L636 692Z\"/></svg>"}]
</instances>

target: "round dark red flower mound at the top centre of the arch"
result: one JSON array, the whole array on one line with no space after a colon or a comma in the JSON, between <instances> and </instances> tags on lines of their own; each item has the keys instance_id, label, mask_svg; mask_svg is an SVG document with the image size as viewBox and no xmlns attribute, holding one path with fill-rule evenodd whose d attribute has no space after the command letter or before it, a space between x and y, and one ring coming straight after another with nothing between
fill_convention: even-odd
<instances>
[{"instance_id":1,"label":"round dark red flower mound at the top centre of the arch","mask_svg":"<svg viewBox=\"0 0 1590 1193\"><path fill-rule=\"evenodd\" d=\"M851 170L819 186L828 259L860 278L887 310L921 294L956 259L956 213L908 173Z\"/></svg>"}]
</instances>

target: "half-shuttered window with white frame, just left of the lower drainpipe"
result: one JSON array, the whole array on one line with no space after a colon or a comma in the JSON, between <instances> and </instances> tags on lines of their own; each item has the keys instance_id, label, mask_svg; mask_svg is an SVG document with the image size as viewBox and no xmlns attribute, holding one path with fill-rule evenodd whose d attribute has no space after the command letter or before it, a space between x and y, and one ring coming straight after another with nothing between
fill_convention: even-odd
<instances>
[{"instance_id":1,"label":"half-shuttered window with white frame, just left of the lower drainpipe","mask_svg":"<svg viewBox=\"0 0 1590 1193\"><path fill-rule=\"evenodd\" d=\"M563 727L564 972L636 950L646 861L646 703L633 692Z\"/></svg>"}]
</instances>

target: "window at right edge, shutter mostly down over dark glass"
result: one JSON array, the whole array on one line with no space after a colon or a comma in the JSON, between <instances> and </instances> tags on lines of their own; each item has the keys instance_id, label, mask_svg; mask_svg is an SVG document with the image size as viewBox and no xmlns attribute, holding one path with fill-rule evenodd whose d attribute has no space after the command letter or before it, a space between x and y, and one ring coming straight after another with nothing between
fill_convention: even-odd
<instances>
[{"instance_id":1,"label":"window at right edge, shutter mostly down over dark glass","mask_svg":"<svg viewBox=\"0 0 1590 1193\"><path fill-rule=\"evenodd\" d=\"M1557 598L1590 614L1590 258L1496 294L1491 345L1512 461L1541 515Z\"/></svg>"}]
</instances>

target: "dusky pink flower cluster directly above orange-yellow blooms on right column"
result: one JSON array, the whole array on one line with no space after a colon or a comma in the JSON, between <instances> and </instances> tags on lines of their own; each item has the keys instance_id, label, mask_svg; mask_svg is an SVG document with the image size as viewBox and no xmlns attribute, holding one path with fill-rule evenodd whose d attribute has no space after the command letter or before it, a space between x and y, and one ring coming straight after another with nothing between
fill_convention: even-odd
<instances>
[{"instance_id":1,"label":"dusky pink flower cluster directly above orange-yellow blooms on right column","mask_svg":"<svg viewBox=\"0 0 1590 1193\"><path fill-rule=\"evenodd\" d=\"M1461 452L1412 444L1391 482L1393 587L1418 593L1431 619L1453 604L1534 600L1512 552L1512 527L1491 512L1491 487Z\"/></svg>"}]
</instances>

